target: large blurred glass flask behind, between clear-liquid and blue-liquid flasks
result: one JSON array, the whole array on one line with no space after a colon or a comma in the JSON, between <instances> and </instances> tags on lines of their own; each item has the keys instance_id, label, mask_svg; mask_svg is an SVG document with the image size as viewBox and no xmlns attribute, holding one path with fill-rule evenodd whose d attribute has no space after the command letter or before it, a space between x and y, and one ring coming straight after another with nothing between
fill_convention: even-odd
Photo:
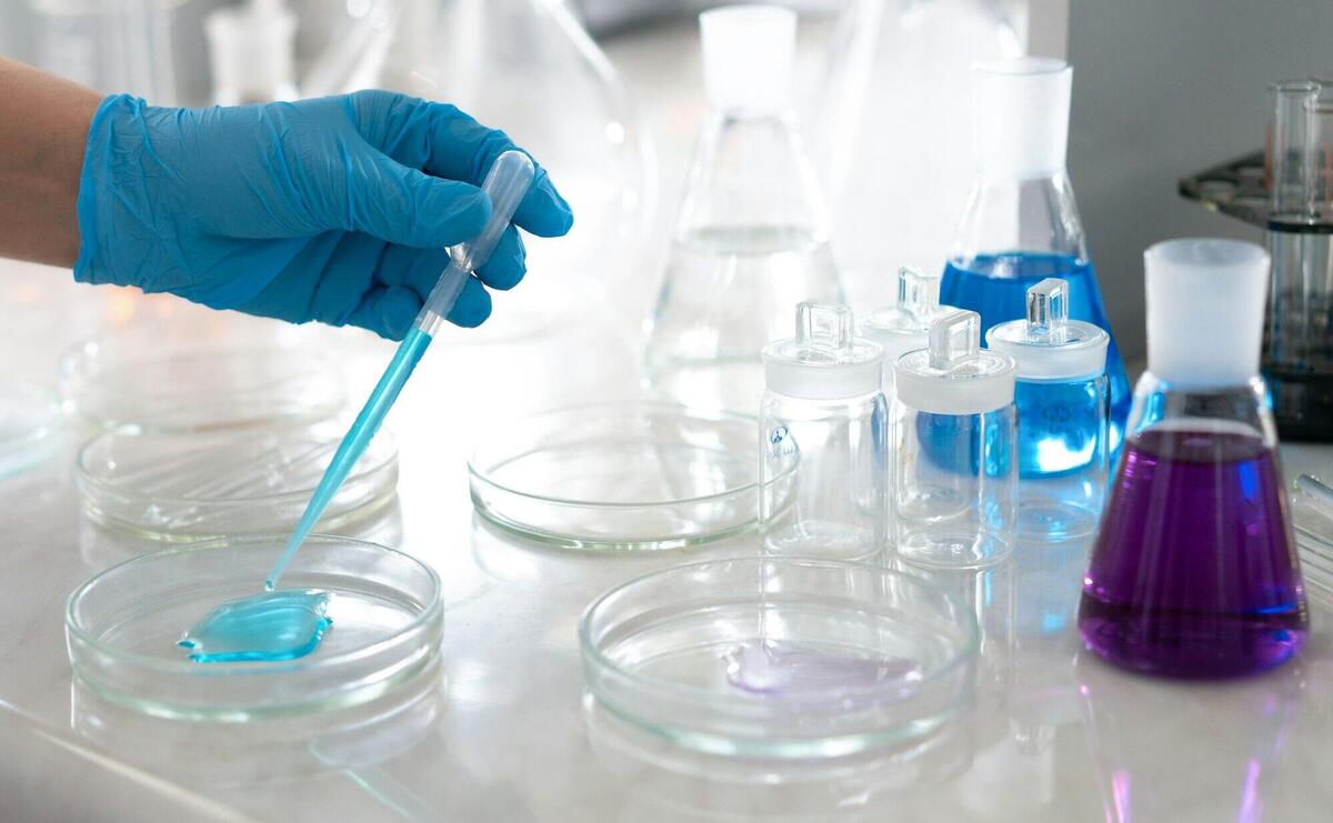
<instances>
[{"instance_id":1,"label":"large blurred glass flask behind, between clear-liquid and blue-liquid flasks","mask_svg":"<svg viewBox=\"0 0 1333 823\"><path fill-rule=\"evenodd\" d=\"M972 184L960 160L972 145L969 69L1021 55L994 0L844 5L810 125L833 249L858 314L893 302L898 266L944 266Z\"/></svg>"}]
</instances>

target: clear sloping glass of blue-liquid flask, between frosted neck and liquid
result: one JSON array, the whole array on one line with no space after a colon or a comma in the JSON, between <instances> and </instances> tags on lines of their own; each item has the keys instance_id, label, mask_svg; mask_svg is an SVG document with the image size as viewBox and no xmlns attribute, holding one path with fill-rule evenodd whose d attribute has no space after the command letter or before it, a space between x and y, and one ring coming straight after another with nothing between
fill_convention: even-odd
<instances>
[{"instance_id":1,"label":"clear sloping glass of blue-liquid flask, between frosted neck and liquid","mask_svg":"<svg viewBox=\"0 0 1333 823\"><path fill-rule=\"evenodd\" d=\"M1064 169L1044 177L978 173L972 184L952 260L966 266L988 256L1024 253L1088 260L1082 218Z\"/></svg>"}]
</instances>

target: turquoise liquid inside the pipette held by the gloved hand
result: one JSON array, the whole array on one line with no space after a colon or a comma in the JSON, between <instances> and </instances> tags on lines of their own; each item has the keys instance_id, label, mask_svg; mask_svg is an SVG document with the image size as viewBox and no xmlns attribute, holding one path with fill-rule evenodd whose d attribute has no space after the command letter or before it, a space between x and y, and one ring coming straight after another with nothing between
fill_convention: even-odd
<instances>
[{"instance_id":1,"label":"turquoise liquid inside the pipette held by the gloved hand","mask_svg":"<svg viewBox=\"0 0 1333 823\"><path fill-rule=\"evenodd\" d=\"M389 361L388 368L380 377L380 382L375 385L375 390L367 398L361 413L356 415L352 427L343 435L343 442L339 443L333 459L329 461L329 467L324 471L324 477L320 478L320 485L315 489L311 502L305 506L301 521L287 541L283 557L277 559L272 571L268 573L268 579L264 581L265 589L272 591L277 587L277 581L283 577L287 565L292 562L296 550L301 547L305 538L315 530L315 523L324 514L324 509L328 507L333 495L337 494L343 481L351 474L352 467L356 466L356 461L365 453L365 447L375 439L375 433L380 430L384 417L393 408L393 402L399 398L399 392L403 390L408 378L412 377L412 370L416 369L417 362L420 362L421 356L425 354L429 345L431 336L415 325L408 330L403 342L399 344L399 350L393 353L393 360Z\"/></svg>"}]
</instances>

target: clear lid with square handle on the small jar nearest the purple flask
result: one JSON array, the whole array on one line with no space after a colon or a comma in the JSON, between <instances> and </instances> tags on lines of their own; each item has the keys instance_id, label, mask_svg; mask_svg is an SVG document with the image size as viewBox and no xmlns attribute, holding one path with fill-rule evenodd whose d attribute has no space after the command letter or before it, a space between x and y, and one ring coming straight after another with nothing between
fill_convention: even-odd
<instances>
[{"instance_id":1,"label":"clear lid with square handle on the small jar nearest the purple flask","mask_svg":"<svg viewBox=\"0 0 1333 823\"><path fill-rule=\"evenodd\" d=\"M986 332L986 346L1017 364L1020 380L1073 380L1106 370L1110 336L1090 322L1069 320L1069 284L1048 277L1028 289L1026 320Z\"/></svg>"}]
</instances>

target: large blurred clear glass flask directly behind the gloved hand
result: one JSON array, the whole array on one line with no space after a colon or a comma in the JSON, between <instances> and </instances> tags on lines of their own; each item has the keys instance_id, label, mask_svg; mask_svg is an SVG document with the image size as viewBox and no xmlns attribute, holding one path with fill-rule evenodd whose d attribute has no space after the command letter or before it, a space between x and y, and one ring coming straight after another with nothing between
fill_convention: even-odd
<instances>
[{"instance_id":1,"label":"large blurred clear glass flask directly behind the gloved hand","mask_svg":"<svg viewBox=\"0 0 1333 823\"><path fill-rule=\"evenodd\" d=\"M569 322L547 310L557 292L615 300L645 288L627 273L643 269L657 198L652 145L619 76L565 0L353 5L360 15L335 28L303 95L377 87L452 103L531 150L573 208L568 237L528 245L532 277L497 296L481 336Z\"/></svg>"}]
</instances>

